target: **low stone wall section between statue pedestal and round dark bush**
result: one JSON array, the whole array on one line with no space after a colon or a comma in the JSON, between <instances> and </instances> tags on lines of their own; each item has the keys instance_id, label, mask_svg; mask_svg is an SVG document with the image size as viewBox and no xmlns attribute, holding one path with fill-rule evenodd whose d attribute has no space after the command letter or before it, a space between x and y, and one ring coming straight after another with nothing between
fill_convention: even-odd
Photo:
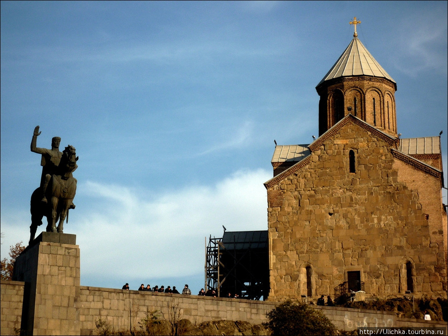
<instances>
[{"instance_id":1,"label":"low stone wall section between statue pedestal and round dark bush","mask_svg":"<svg viewBox=\"0 0 448 336\"><path fill-rule=\"evenodd\" d=\"M106 317L115 331L139 330L138 322L148 312L161 311L169 320L168 310L178 305L183 318L193 324L205 321L230 320L261 324L266 321L265 313L276 303L259 301L199 297L196 295L153 293L81 287L79 299L81 335L95 329L95 320Z\"/></svg>"}]
</instances>

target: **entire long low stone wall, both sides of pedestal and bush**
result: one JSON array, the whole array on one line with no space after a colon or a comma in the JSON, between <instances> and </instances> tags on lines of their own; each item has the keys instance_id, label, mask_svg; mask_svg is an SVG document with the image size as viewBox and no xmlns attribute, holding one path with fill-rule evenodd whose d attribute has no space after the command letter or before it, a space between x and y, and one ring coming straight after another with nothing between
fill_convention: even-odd
<instances>
[{"instance_id":1,"label":"entire long low stone wall, both sides of pedestal and bush","mask_svg":"<svg viewBox=\"0 0 448 336\"><path fill-rule=\"evenodd\" d=\"M1 281L0 335L15 335L16 330L20 328L23 288L23 282ZM159 310L162 312L162 318L168 320L168 308L173 305L178 305L182 318L193 324L213 320L240 320L260 324L266 321L265 314L278 304L87 286L80 287L80 297L75 302L80 312L81 335L97 335L95 320L98 318L107 319L115 332L139 330L138 322L148 311ZM345 331L358 327L447 327L446 322L401 319L387 312L313 307L320 309L338 329ZM54 330L47 335L60 335L60 331Z\"/></svg>"}]
</instances>

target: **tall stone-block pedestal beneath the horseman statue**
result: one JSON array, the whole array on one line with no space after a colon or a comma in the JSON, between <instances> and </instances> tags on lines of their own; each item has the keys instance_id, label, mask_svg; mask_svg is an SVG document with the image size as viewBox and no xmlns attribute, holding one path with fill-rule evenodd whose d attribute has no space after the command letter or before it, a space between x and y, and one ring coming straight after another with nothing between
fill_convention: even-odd
<instances>
[{"instance_id":1,"label":"tall stone-block pedestal beneath the horseman statue","mask_svg":"<svg viewBox=\"0 0 448 336\"><path fill-rule=\"evenodd\" d=\"M24 281L21 335L80 335L80 250L76 235L42 232L16 259Z\"/></svg>"}]
</instances>

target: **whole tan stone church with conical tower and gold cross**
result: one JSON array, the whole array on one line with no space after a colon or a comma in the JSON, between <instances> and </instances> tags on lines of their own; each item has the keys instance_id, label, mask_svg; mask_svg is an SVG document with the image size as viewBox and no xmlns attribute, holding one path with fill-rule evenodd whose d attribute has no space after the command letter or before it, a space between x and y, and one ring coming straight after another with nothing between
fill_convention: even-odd
<instances>
[{"instance_id":1,"label":"whole tan stone church with conical tower and gold cross","mask_svg":"<svg viewBox=\"0 0 448 336\"><path fill-rule=\"evenodd\" d=\"M319 137L276 145L268 300L447 297L440 134L401 138L397 84L356 34L316 87Z\"/></svg>"}]
</instances>

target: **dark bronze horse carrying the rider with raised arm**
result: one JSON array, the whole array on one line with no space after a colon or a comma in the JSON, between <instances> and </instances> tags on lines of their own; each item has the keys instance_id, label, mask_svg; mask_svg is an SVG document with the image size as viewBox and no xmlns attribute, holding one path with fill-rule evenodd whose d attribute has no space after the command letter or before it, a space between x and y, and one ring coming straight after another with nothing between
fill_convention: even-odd
<instances>
[{"instance_id":1,"label":"dark bronze horse carrying the rider with raised arm","mask_svg":"<svg viewBox=\"0 0 448 336\"><path fill-rule=\"evenodd\" d=\"M45 190L47 203L42 201L41 187L34 190L31 195L30 243L34 240L37 226L42 225L44 216L47 218L48 223L46 227L47 232L63 232L64 220L67 218L68 222L69 209L75 209L73 199L75 198L77 180L72 173L78 168L76 164L78 159L75 147L70 145L65 147L56 172L51 176ZM58 219L59 224L56 227Z\"/></svg>"}]
</instances>

